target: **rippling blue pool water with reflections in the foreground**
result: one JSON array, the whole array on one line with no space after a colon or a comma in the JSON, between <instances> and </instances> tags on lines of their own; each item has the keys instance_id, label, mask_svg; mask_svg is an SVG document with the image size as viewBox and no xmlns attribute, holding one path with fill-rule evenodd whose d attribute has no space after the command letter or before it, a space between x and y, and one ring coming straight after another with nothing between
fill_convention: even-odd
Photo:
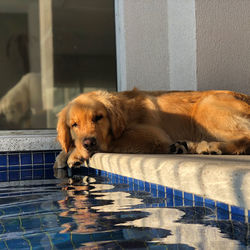
<instances>
[{"instance_id":1,"label":"rippling blue pool water with reflections in the foreground","mask_svg":"<svg viewBox=\"0 0 250 250\"><path fill-rule=\"evenodd\" d=\"M70 181L59 170L57 179L1 184L0 249L249 247L245 217L178 197L171 203L168 195L87 168L75 171Z\"/></svg>"}]
</instances>

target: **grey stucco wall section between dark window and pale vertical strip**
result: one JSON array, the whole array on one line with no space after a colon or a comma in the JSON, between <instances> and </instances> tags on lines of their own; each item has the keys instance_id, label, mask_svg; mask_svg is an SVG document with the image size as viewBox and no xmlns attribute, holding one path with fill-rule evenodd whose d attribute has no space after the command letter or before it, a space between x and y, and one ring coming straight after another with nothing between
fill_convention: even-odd
<instances>
[{"instance_id":1,"label":"grey stucco wall section between dark window and pale vertical strip","mask_svg":"<svg viewBox=\"0 0 250 250\"><path fill-rule=\"evenodd\" d=\"M123 64L118 65L122 74L118 72L122 85L118 89L168 89L167 1L118 0L115 4L117 63Z\"/></svg>"}]
</instances>

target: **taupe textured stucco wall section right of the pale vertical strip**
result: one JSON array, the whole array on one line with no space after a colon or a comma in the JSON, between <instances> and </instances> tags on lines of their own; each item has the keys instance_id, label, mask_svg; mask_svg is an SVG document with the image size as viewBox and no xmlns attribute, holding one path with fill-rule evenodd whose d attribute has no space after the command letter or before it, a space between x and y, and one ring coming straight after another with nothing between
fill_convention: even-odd
<instances>
[{"instance_id":1,"label":"taupe textured stucco wall section right of the pale vertical strip","mask_svg":"<svg viewBox=\"0 0 250 250\"><path fill-rule=\"evenodd\" d=\"M198 89L250 94L250 1L196 0Z\"/></svg>"}]
</instances>

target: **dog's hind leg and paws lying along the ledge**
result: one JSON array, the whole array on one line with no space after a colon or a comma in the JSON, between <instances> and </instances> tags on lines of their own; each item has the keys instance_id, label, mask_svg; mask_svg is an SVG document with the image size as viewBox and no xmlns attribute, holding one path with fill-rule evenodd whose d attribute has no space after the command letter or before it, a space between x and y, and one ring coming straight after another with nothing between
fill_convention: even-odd
<instances>
[{"instance_id":1,"label":"dog's hind leg and paws lying along the ledge","mask_svg":"<svg viewBox=\"0 0 250 250\"><path fill-rule=\"evenodd\" d=\"M245 137L229 142L190 142L182 141L171 145L174 154L250 154L250 139Z\"/></svg>"}]
</instances>

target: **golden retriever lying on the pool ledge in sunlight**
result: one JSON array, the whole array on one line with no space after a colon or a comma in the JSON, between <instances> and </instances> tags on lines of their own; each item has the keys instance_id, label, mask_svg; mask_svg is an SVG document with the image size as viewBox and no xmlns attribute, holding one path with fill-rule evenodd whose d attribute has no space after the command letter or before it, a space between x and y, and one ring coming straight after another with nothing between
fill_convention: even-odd
<instances>
[{"instance_id":1,"label":"golden retriever lying on the pool ledge in sunlight","mask_svg":"<svg viewBox=\"0 0 250 250\"><path fill-rule=\"evenodd\" d=\"M249 154L250 96L231 91L94 91L58 115L69 167L96 152ZM63 167L63 163L56 167Z\"/></svg>"}]
</instances>

